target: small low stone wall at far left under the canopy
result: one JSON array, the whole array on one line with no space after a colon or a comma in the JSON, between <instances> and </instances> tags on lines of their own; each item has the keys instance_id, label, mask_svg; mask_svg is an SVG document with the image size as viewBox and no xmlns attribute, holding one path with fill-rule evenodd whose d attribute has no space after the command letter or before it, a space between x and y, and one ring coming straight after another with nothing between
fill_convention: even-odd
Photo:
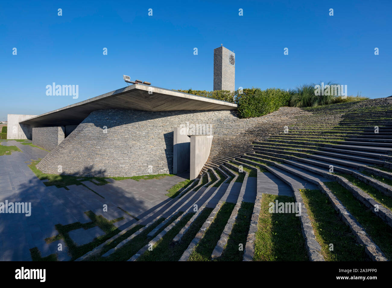
<instances>
[{"instance_id":1,"label":"small low stone wall at far left under the canopy","mask_svg":"<svg viewBox=\"0 0 392 288\"><path fill-rule=\"evenodd\" d=\"M51 151L64 140L64 131L64 126L33 128L33 145Z\"/></svg>"}]
</instances>

